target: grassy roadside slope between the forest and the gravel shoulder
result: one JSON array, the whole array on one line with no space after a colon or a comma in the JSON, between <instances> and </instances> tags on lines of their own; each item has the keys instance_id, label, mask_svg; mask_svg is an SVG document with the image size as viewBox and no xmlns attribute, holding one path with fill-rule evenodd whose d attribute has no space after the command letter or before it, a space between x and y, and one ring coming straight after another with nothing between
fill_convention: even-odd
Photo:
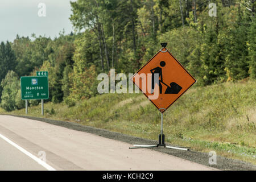
<instances>
[{"instance_id":1,"label":"grassy roadside slope between the forest and the gravel shoulder","mask_svg":"<svg viewBox=\"0 0 256 182\"><path fill-rule=\"evenodd\" d=\"M143 94L104 94L67 107L48 102L46 118L157 140L160 113ZM28 115L42 117L41 107ZM1 114L6 112L0 109ZM25 110L6 114L24 115ZM192 88L164 113L166 141L256 164L256 81Z\"/></svg>"}]
</instances>

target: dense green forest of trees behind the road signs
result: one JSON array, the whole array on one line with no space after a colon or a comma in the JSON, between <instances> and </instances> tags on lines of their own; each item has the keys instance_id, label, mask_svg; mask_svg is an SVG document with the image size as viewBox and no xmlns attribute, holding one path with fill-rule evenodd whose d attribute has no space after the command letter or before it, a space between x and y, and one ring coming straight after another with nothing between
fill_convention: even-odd
<instances>
[{"instance_id":1,"label":"dense green forest of trees behind the road signs","mask_svg":"<svg viewBox=\"0 0 256 182\"><path fill-rule=\"evenodd\" d=\"M216 5L211 16L210 3ZM196 78L196 86L256 78L255 0L77 0L74 31L57 38L16 35L0 44L0 101L6 111L25 107L20 77L48 71L48 102L98 95L97 75L135 73L167 42ZM40 101L30 100L30 105Z\"/></svg>"}]
</instances>

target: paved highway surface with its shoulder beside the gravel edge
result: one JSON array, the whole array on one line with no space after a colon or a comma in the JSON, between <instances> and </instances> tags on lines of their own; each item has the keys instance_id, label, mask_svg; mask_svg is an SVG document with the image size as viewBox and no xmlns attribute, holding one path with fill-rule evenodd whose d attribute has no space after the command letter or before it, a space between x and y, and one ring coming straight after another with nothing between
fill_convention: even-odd
<instances>
[{"instance_id":1,"label":"paved highway surface with its shoulder beside the gravel edge","mask_svg":"<svg viewBox=\"0 0 256 182\"><path fill-rule=\"evenodd\" d=\"M0 115L0 170L49 169L45 165L56 170L215 170L161 152L129 147L128 143L94 134ZM42 154L46 154L43 166L36 162Z\"/></svg>"}]
</instances>

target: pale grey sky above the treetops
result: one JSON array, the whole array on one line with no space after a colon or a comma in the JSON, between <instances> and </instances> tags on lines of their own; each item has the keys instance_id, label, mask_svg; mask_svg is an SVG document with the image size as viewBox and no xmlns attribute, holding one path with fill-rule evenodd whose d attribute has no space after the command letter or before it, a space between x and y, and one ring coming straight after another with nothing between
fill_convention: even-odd
<instances>
[{"instance_id":1,"label":"pale grey sky above the treetops","mask_svg":"<svg viewBox=\"0 0 256 182\"><path fill-rule=\"evenodd\" d=\"M18 34L42 35L51 38L59 36L63 29L70 34L72 24L70 0L1 0L0 1L0 42L13 42ZM75 0L72 0L75 1ZM40 3L44 3L45 10ZM46 12L46 16L43 15ZM38 15L39 14L39 15Z\"/></svg>"}]
</instances>

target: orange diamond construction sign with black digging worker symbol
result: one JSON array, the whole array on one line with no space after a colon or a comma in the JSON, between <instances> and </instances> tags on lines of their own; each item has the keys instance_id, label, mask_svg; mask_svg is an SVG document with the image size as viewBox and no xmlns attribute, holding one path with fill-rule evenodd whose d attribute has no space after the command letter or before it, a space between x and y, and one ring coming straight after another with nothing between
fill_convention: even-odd
<instances>
[{"instance_id":1,"label":"orange diamond construction sign with black digging worker symbol","mask_svg":"<svg viewBox=\"0 0 256 182\"><path fill-rule=\"evenodd\" d=\"M165 47L131 80L162 113L196 82Z\"/></svg>"}]
</instances>

